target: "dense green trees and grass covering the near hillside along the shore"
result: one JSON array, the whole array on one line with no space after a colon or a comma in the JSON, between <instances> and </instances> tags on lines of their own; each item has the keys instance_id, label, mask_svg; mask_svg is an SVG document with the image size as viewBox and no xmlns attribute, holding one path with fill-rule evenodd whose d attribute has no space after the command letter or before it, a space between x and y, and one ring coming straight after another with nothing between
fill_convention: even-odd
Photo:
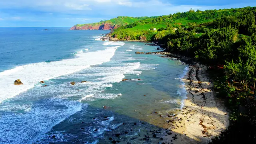
<instances>
[{"instance_id":1,"label":"dense green trees and grass covering the near hillside along the shore","mask_svg":"<svg viewBox=\"0 0 256 144\"><path fill-rule=\"evenodd\" d=\"M162 44L169 52L209 65L218 96L230 108L230 126L213 144L256 143L256 7L206 10L148 18L120 27L113 37ZM152 30L156 28L157 31ZM233 82L234 80L234 82ZM230 83L231 82L231 83Z\"/></svg>"}]
</instances>

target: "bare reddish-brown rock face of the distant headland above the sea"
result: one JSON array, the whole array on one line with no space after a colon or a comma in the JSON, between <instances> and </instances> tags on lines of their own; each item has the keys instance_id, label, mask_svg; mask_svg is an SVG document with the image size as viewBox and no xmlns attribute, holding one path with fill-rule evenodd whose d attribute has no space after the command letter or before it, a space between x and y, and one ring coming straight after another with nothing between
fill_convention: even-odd
<instances>
[{"instance_id":1,"label":"bare reddish-brown rock face of the distant headland above the sea","mask_svg":"<svg viewBox=\"0 0 256 144\"><path fill-rule=\"evenodd\" d=\"M114 28L118 28L117 25L104 23L104 24L98 24L98 25L91 25L91 24L85 24L84 26L73 26L70 28L70 30L111 30Z\"/></svg>"}]
</instances>

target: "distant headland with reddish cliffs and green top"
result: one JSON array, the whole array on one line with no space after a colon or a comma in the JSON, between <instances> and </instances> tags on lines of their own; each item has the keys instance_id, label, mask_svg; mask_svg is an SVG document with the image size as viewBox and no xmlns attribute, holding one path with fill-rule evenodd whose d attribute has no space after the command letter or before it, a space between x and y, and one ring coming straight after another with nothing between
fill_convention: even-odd
<instances>
[{"instance_id":1,"label":"distant headland with reddish cliffs and green top","mask_svg":"<svg viewBox=\"0 0 256 144\"><path fill-rule=\"evenodd\" d=\"M154 17L128 17L128 16L118 16L117 18L112 18L110 20L104 20L101 22L91 23L91 24L76 24L71 27L70 30L111 30L125 26L127 24L134 23L139 20L144 20L147 18L156 18Z\"/></svg>"}]
</instances>

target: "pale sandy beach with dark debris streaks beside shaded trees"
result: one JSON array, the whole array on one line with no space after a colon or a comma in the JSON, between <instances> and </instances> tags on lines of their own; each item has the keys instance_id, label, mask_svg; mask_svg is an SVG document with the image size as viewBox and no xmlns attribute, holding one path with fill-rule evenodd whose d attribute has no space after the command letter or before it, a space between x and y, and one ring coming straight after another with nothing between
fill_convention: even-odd
<instances>
[{"instance_id":1,"label":"pale sandy beach with dark debris streaks beside shaded trees","mask_svg":"<svg viewBox=\"0 0 256 144\"><path fill-rule=\"evenodd\" d=\"M162 142L168 144L208 144L229 124L228 111L222 100L215 97L207 67L190 66L185 82L187 99L184 107L174 116L172 134Z\"/></svg>"}]
</instances>

